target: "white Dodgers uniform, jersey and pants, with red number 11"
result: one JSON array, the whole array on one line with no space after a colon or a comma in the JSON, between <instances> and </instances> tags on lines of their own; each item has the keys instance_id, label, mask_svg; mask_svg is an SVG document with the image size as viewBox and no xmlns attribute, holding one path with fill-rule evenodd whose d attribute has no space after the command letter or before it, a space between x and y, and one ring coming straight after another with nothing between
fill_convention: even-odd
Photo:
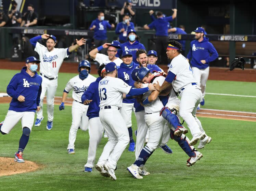
<instances>
[{"instance_id":1,"label":"white Dodgers uniform, jersey and pants, with red number 11","mask_svg":"<svg viewBox=\"0 0 256 191\"><path fill-rule=\"evenodd\" d=\"M40 75L42 76L42 93L40 97L40 111L37 119L43 117L43 98L46 94L48 121L53 121L54 95L58 86L58 73L64 58L67 58L68 48L53 48L51 52L39 42L36 43L35 51L39 54ZM52 80L48 78L54 78Z\"/></svg>"}]
</instances>

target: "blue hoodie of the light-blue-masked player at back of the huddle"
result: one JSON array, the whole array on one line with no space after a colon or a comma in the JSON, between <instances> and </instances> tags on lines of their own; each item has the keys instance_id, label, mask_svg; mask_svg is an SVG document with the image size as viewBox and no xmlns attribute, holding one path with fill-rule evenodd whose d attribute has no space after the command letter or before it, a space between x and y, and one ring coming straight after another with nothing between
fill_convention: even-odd
<instances>
[{"instance_id":1,"label":"blue hoodie of the light-blue-masked player at back of the huddle","mask_svg":"<svg viewBox=\"0 0 256 191\"><path fill-rule=\"evenodd\" d=\"M145 46L139 41L136 40L133 44L131 44L128 40L125 43L121 44L121 48L118 49L116 57L120 57L125 50L130 50L132 54L132 61L136 64L139 64L139 62L136 60L136 52L138 49L146 50Z\"/></svg>"}]
</instances>

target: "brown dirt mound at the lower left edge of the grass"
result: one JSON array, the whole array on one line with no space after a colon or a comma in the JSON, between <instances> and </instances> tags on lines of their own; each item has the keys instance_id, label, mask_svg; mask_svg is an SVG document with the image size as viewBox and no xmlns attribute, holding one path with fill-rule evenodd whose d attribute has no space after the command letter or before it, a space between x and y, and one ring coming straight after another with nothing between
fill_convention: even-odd
<instances>
[{"instance_id":1,"label":"brown dirt mound at the lower left edge of the grass","mask_svg":"<svg viewBox=\"0 0 256 191\"><path fill-rule=\"evenodd\" d=\"M14 161L14 157L0 157L0 176L31 172L39 167L35 162L25 160L25 163L17 163Z\"/></svg>"}]
</instances>

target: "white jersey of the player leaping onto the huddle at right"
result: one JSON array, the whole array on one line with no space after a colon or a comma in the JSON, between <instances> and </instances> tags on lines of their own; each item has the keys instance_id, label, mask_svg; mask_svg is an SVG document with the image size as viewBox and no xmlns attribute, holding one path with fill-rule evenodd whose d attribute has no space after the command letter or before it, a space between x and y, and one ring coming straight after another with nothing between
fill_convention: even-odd
<instances>
[{"instance_id":1,"label":"white jersey of the player leaping onto the huddle at right","mask_svg":"<svg viewBox=\"0 0 256 191\"><path fill-rule=\"evenodd\" d=\"M169 71L176 75L171 83L176 92L179 92L185 85L196 83L189 62L181 54L172 59Z\"/></svg>"}]
</instances>

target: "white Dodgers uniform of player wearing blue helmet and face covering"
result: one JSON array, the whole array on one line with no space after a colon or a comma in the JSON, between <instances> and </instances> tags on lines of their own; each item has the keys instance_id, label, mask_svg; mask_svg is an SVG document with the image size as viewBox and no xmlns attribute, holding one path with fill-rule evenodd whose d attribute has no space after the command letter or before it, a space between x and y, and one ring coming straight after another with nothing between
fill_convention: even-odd
<instances>
[{"instance_id":1,"label":"white Dodgers uniform of player wearing blue helmet and face covering","mask_svg":"<svg viewBox=\"0 0 256 191\"><path fill-rule=\"evenodd\" d=\"M78 127L81 130L86 131L88 129L88 117L86 116L88 105L84 105L81 102L81 97L84 91L89 87L89 85L94 82L96 78L90 74L84 80L79 78L79 75L71 78L66 87L65 91L69 92L73 89L72 97L74 99L72 104L72 125L69 130L69 137L68 137L68 146L67 149L74 149L75 148L75 141L76 141L76 133Z\"/></svg>"}]
</instances>

